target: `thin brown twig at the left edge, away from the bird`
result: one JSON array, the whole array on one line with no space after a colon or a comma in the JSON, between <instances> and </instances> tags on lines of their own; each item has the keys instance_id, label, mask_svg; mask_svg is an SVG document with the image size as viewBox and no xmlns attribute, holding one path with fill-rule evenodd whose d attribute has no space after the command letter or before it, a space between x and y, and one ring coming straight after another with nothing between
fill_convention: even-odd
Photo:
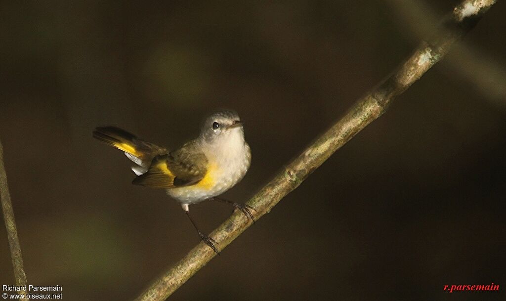
<instances>
[{"instance_id":1,"label":"thin brown twig at the left edge, away from the bird","mask_svg":"<svg viewBox=\"0 0 506 301\"><path fill-rule=\"evenodd\" d=\"M23 269L23 256L19 246L18 230L16 229L16 220L12 209L11 194L7 184L7 173L4 165L4 147L0 142L0 200L2 200L2 209L4 212L5 227L9 238L9 248L11 249L12 266L14 268L14 278L16 286L26 285L26 275ZM20 290L19 294L26 294L26 291ZM27 300L22 298L22 300Z\"/></svg>"}]
</instances>

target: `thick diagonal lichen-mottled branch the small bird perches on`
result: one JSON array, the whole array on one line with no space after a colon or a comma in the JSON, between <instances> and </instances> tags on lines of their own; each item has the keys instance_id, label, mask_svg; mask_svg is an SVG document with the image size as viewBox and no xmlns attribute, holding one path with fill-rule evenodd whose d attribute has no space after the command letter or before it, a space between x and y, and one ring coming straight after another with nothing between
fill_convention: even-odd
<instances>
[{"instance_id":1,"label":"thick diagonal lichen-mottled branch the small bird perches on","mask_svg":"<svg viewBox=\"0 0 506 301\"><path fill-rule=\"evenodd\" d=\"M256 209L256 220L268 213L285 195L296 189L332 153L342 147L374 119L381 116L391 101L402 94L429 68L441 60L454 42L471 30L495 0L466 0L457 6L433 38L414 51L391 76L372 92L359 99L345 116L316 139L301 155L247 204ZM218 249L225 248L237 238L251 222L241 212L235 212L210 236L219 242ZM199 243L170 270L164 272L136 301L161 301L193 276L215 256L204 243Z\"/></svg>"}]
</instances>

